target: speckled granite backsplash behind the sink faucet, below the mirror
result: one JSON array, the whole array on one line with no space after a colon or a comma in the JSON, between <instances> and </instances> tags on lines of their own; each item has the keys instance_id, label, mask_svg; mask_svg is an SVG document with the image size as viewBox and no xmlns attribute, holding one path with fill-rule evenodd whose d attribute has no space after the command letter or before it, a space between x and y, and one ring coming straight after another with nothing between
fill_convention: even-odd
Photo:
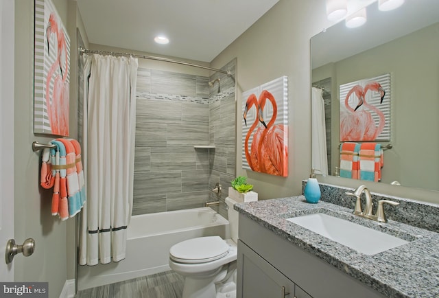
<instances>
[{"instance_id":1,"label":"speckled granite backsplash behind the sink faucet, below the mirror","mask_svg":"<svg viewBox=\"0 0 439 298\"><path fill-rule=\"evenodd\" d=\"M302 194L304 192L306 180L302 181ZM319 183L323 200L328 203L354 209L355 200L346 196L345 192L353 192L353 188ZM399 203L396 207L384 205L385 216L390 220L403 222L407 225L427 229L429 231L439 232L439 205L433 203L420 202L410 198L400 198L389 196L387 194L377 194L371 192L372 203L378 206L379 200L394 200ZM362 202L364 210L364 200Z\"/></svg>"}]
</instances>

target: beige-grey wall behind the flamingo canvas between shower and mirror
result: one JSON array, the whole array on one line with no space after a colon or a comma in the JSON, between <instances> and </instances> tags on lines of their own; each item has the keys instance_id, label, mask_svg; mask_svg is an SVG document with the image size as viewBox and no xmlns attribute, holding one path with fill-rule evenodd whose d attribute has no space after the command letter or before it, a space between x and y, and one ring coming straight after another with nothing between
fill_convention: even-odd
<instances>
[{"instance_id":1,"label":"beige-grey wall behind the flamingo canvas between shower and mirror","mask_svg":"<svg viewBox=\"0 0 439 298\"><path fill-rule=\"evenodd\" d=\"M280 0L212 62L220 67L237 58L237 106L241 93L279 76L288 76L289 176L270 176L242 169L241 139L237 139L237 174L249 176L259 199L301 194L301 181L311 171L311 67L310 38L335 22L327 20L325 1ZM241 113L237 115L241 135ZM322 177L334 185L357 187L358 181ZM438 192L410 187L365 183L370 190L405 198L438 202Z\"/></svg>"}]
</instances>

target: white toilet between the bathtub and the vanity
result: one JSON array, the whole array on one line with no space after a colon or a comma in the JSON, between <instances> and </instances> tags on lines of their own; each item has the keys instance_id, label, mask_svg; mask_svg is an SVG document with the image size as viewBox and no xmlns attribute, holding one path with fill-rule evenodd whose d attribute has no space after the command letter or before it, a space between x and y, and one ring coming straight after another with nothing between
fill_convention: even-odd
<instances>
[{"instance_id":1,"label":"white toilet between the bathtub and the vanity","mask_svg":"<svg viewBox=\"0 0 439 298\"><path fill-rule=\"evenodd\" d=\"M238 241L237 203L226 198L231 239L193 238L169 249L169 266L185 276L182 298L235 298Z\"/></svg>"}]
</instances>

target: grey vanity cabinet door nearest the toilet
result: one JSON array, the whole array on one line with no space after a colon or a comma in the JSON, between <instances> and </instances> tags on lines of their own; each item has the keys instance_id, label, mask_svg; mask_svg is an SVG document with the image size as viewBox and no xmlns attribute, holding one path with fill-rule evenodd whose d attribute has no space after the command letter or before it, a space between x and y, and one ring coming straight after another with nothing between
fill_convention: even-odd
<instances>
[{"instance_id":1,"label":"grey vanity cabinet door nearest the toilet","mask_svg":"<svg viewBox=\"0 0 439 298\"><path fill-rule=\"evenodd\" d=\"M246 244L238 241L237 297L294 297L294 283Z\"/></svg>"}]
</instances>

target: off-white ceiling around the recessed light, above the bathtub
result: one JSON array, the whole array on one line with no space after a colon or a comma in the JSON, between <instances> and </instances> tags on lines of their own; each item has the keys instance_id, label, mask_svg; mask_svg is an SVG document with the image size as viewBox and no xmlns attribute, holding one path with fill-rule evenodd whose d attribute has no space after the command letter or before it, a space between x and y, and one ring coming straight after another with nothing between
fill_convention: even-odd
<instances>
[{"instance_id":1,"label":"off-white ceiling around the recessed light, above the bathtub","mask_svg":"<svg viewBox=\"0 0 439 298\"><path fill-rule=\"evenodd\" d=\"M88 41L211 62L278 0L77 0ZM158 34L167 45L154 43Z\"/></svg>"}]
</instances>

